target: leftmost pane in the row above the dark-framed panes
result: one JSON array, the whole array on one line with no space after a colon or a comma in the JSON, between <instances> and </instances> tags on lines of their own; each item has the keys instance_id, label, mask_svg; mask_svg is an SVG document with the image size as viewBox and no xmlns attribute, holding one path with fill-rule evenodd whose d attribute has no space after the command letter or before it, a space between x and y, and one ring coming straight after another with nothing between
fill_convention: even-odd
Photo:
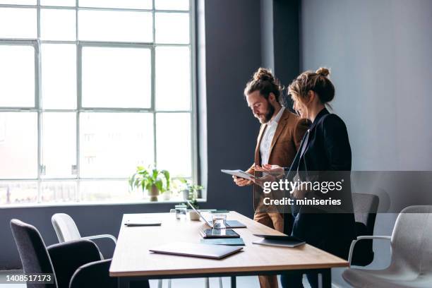
<instances>
[{"instance_id":1,"label":"leftmost pane in the row above the dark-framed panes","mask_svg":"<svg viewBox=\"0 0 432 288\"><path fill-rule=\"evenodd\" d=\"M0 8L0 37L36 39L36 8Z\"/></svg>"}]
</instances>

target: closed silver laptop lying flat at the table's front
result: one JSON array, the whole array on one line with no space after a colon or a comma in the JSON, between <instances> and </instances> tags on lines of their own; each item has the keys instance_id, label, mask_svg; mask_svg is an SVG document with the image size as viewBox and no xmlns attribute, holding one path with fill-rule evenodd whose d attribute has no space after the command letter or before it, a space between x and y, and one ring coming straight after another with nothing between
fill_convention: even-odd
<instances>
[{"instance_id":1,"label":"closed silver laptop lying flat at the table's front","mask_svg":"<svg viewBox=\"0 0 432 288\"><path fill-rule=\"evenodd\" d=\"M242 248L243 247L239 246L175 242L157 246L149 250L154 253L162 254L222 259L241 251Z\"/></svg>"}]
</instances>

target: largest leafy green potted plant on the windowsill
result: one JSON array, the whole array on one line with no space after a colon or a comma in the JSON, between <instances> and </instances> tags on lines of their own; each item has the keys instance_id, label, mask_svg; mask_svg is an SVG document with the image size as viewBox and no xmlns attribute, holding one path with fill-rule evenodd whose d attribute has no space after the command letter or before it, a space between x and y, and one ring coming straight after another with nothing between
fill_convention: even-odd
<instances>
[{"instance_id":1,"label":"largest leafy green potted plant on the windowsill","mask_svg":"<svg viewBox=\"0 0 432 288\"><path fill-rule=\"evenodd\" d=\"M148 191L150 201L157 201L157 196L169 190L169 172L151 167L136 167L136 173L129 178L131 188Z\"/></svg>"}]
</instances>

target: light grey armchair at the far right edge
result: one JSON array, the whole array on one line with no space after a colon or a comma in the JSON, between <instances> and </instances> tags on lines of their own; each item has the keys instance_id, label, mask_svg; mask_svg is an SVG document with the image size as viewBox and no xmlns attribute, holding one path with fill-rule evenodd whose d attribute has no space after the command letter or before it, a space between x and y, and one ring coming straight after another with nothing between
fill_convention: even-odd
<instances>
[{"instance_id":1,"label":"light grey armchair at the far right edge","mask_svg":"<svg viewBox=\"0 0 432 288\"><path fill-rule=\"evenodd\" d=\"M391 260L383 270L349 268L342 273L356 288L431 287L432 206L410 206L397 217L392 236L361 236L362 239L390 240ZM349 253L352 258L353 241Z\"/></svg>"}]
</instances>

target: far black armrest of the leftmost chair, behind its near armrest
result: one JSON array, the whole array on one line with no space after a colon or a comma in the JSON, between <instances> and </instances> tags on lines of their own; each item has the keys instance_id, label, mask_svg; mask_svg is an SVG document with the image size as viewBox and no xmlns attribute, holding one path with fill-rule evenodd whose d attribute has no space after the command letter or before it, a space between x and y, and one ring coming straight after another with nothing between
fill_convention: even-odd
<instances>
[{"instance_id":1,"label":"far black armrest of the leftmost chair, behind its near armrest","mask_svg":"<svg viewBox=\"0 0 432 288\"><path fill-rule=\"evenodd\" d=\"M69 287L74 272L80 266L100 260L96 244L90 240L75 240L47 247L59 288Z\"/></svg>"}]
</instances>

